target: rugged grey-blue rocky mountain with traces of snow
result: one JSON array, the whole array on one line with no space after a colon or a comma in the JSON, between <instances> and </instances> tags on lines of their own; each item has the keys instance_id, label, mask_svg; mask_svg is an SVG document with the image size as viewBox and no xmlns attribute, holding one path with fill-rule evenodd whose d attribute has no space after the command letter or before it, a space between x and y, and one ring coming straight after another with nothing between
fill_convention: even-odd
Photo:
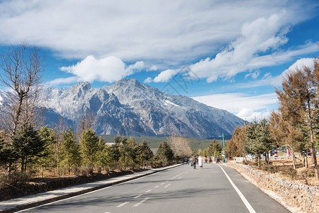
<instances>
[{"instance_id":1,"label":"rugged grey-blue rocky mountain with traces of snow","mask_svg":"<svg viewBox=\"0 0 319 213\"><path fill-rule=\"evenodd\" d=\"M141 84L120 80L100 89L80 82L69 89L43 91L46 123L62 116L75 122L89 111L95 116L97 133L125 136L167 136L211 138L230 135L244 121L222 109L208 107L184 96L174 96Z\"/></svg>"}]
</instances>

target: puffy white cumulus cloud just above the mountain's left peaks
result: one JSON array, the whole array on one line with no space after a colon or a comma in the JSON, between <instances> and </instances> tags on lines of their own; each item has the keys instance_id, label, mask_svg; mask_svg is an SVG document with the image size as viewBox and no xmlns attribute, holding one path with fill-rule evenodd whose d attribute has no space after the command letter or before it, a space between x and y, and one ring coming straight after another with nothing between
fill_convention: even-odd
<instances>
[{"instance_id":1,"label":"puffy white cumulus cloud just above the mountain's left peaks","mask_svg":"<svg viewBox=\"0 0 319 213\"><path fill-rule=\"evenodd\" d=\"M50 84L70 84L79 81L94 82L95 80L99 82L114 82L132 75L144 67L145 63L142 61L126 66L120 58L114 56L96 59L94 56L89 55L76 65L60 67L60 70L71 73L74 77L52 80Z\"/></svg>"}]
</instances>

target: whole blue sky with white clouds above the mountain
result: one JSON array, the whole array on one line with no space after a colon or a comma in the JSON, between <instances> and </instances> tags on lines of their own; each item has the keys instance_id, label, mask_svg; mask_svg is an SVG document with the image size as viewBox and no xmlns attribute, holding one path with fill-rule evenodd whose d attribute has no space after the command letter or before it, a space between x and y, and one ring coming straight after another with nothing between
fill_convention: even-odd
<instances>
[{"instance_id":1,"label":"whole blue sky with white clouds above the mountain","mask_svg":"<svg viewBox=\"0 0 319 213\"><path fill-rule=\"evenodd\" d=\"M53 87L134 77L251 121L276 110L288 70L313 66L318 12L318 1L0 1L0 52L40 47Z\"/></svg>"}]
</instances>

